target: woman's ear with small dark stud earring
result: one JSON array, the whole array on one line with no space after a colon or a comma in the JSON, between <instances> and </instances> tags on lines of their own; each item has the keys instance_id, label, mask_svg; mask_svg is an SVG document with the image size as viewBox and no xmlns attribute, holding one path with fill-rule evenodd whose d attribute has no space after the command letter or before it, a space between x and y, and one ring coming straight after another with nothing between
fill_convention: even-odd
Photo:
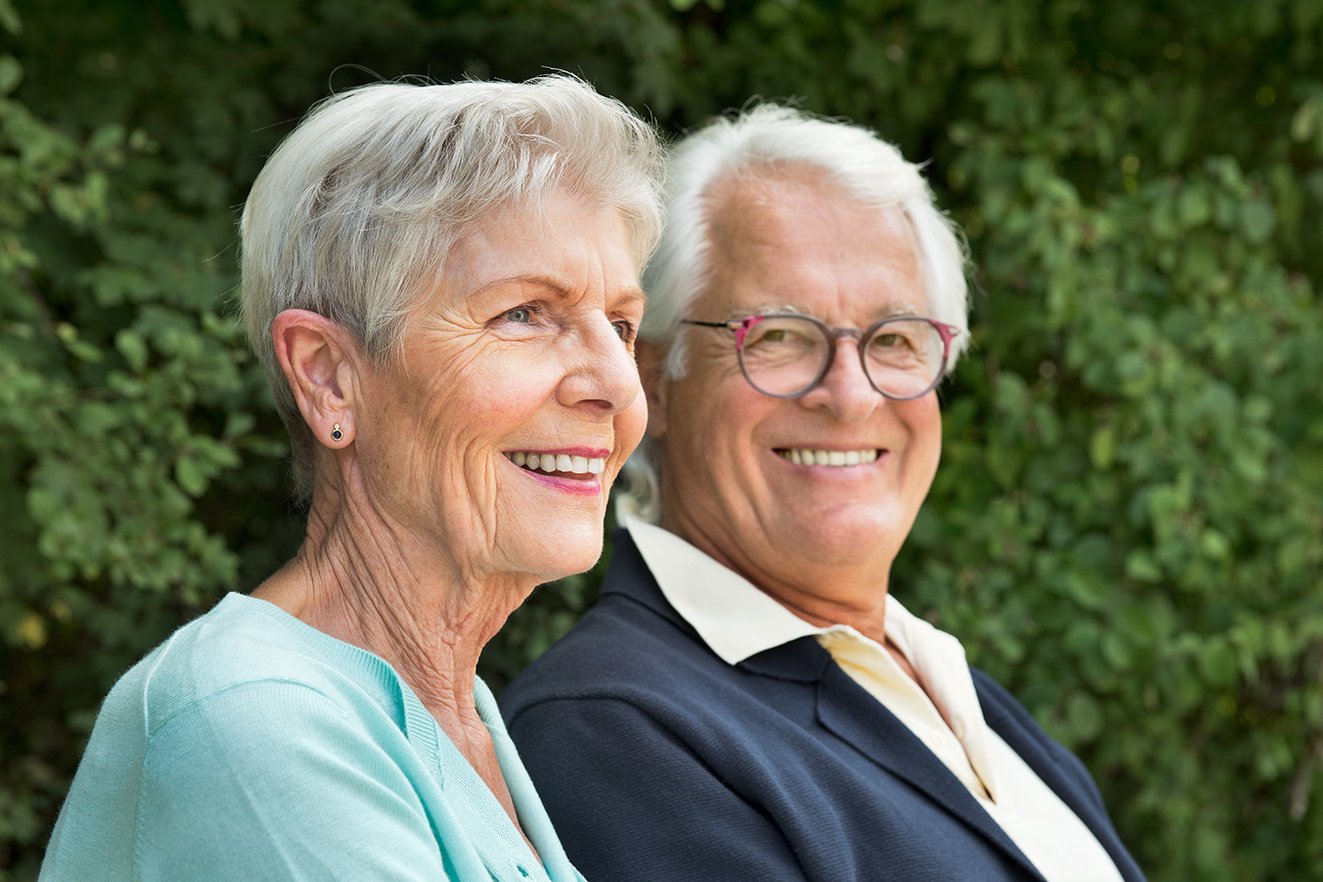
<instances>
[{"instance_id":1,"label":"woman's ear with small dark stud earring","mask_svg":"<svg viewBox=\"0 0 1323 882\"><path fill-rule=\"evenodd\" d=\"M312 435L332 448L351 443L360 369L353 336L316 312L286 309L271 321L271 342Z\"/></svg>"}]
</instances>

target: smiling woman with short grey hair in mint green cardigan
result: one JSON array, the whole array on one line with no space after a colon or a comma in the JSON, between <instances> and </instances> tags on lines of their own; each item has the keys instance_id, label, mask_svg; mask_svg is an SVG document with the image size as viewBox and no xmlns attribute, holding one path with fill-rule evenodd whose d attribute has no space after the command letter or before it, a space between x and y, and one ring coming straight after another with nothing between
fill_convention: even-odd
<instances>
[{"instance_id":1,"label":"smiling woman with short grey hair in mint green cardigan","mask_svg":"<svg viewBox=\"0 0 1323 882\"><path fill-rule=\"evenodd\" d=\"M110 693L46 879L578 879L475 676L646 421L651 130L566 77L321 104L243 212L298 555Z\"/></svg>"}]
</instances>

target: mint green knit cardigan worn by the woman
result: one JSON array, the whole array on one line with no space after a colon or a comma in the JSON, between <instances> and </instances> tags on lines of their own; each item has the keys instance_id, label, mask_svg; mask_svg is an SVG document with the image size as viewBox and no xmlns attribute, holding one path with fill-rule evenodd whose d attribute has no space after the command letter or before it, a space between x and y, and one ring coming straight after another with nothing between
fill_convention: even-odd
<instances>
[{"instance_id":1,"label":"mint green knit cardigan worn by the woman","mask_svg":"<svg viewBox=\"0 0 1323 882\"><path fill-rule=\"evenodd\" d=\"M541 862L390 665L230 594L106 698L41 879L582 882L476 698Z\"/></svg>"}]
</instances>

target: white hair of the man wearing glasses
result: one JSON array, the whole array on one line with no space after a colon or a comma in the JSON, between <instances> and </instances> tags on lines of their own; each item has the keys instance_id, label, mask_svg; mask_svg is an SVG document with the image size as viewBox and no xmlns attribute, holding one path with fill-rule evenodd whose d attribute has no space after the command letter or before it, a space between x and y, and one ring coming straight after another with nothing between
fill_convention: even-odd
<instances>
[{"instance_id":1,"label":"white hair of the man wearing glasses","mask_svg":"<svg viewBox=\"0 0 1323 882\"><path fill-rule=\"evenodd\" d=\"M665 348L663 370L685 372L680 320L712 276L710 205L718 188L738 179L769 180L789 172L819 173L864 205L901 208L918 242L930 317L968 327L966 249L959 229L933 201L921 169L867 128L820 119L765 103L697 130L671 152L665 188L667 222L643 275L648 309L639 328L644 340ZM951 341L950 372L968 345ZM658 458L651 439L624 467L622 510L643 520L660 516Z\"/></svg>"}]
</instances>

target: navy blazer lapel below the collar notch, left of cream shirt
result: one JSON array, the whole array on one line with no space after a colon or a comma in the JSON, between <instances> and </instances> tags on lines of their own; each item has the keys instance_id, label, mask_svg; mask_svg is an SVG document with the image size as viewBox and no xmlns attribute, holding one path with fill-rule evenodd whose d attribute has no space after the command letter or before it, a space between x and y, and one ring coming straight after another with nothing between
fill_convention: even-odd
<instances>
[{"instance_id":1,"label":"navy blazer lapel below the collar notch, left of cream shirt","mask_svg":"<svg viewBox=\"0 0 1323 882\"><path fill-rule=\"evenodd\" d=\"M826 655L826 649L823 653ZM942 760L835 664L823 669L818 682L818 719L860 754L909 783L1013 857L1032 878L1043 878Z\"/></svg>"}]
</instances>

